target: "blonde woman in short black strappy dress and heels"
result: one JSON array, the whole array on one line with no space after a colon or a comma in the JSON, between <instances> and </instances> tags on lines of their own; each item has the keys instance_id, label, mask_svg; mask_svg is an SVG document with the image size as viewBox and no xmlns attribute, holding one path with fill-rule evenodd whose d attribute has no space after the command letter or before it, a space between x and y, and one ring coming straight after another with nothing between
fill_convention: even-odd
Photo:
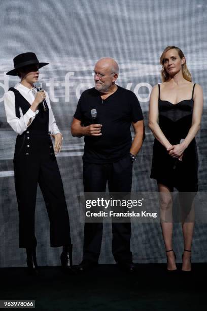
<instances>
[{"instance_id":1,"label":"blonde woman in short black strappy dress and heels","mask_svg":"<svg viewBox=\"0 0 207 311\"><path fill-rule=\"evenodd\" d=\"M172 193L180 195L184 252L183 271L191 270L191 245L194 230L193 199L198 190L197 147L200 128L202 88L192 82L186 58L180 48L168 46L160 57L162 83L150 96L149 127L155 136L151 178L160 194L160 218L167 270L177 270L172 249Z\"/></svg>"}]
</instances>

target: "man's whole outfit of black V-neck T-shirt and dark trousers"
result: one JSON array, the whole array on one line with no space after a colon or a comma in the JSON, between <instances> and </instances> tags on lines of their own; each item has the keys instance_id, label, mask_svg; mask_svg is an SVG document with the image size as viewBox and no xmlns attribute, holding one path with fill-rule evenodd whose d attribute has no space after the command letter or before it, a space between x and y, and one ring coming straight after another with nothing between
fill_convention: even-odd
<instances>
[{"instance_id":1,"label":"man's whole outfit of black V-neck T-shirt and dark trousers","mask_svg":"<svg viewBox=\"0 0 207 311\"><path fill-rule=\"evenodd\" d=\"M83 92L74 117L84 126L92 123L91 109L97 111L97 123L102 125L102 136L85 136L83 155L84 192L131 191L132 162L131 122L143 119L142 110L133 92L120 86L106 100L91 88ZM113 223L112 252L116 262L131 263L130 223ZM100 255L102 223L85 223L83 261L97 263Z\"/></svg>"}]
</instances>

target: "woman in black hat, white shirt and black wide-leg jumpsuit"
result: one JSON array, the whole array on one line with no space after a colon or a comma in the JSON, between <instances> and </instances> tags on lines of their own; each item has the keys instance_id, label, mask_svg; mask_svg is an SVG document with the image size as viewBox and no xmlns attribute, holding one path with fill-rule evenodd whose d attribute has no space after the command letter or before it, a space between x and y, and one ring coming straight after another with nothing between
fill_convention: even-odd
<instances>
[{"instance_id":1,"label":"woman in black hat, white shirt and black wide-leg jumpsuit","mask_svg":"<svg viewBox=\"0 0 207 311\"><path fill-rule=\"evenodd\" d=\"M19 209L19 247L26 248L27 266L37 273L34 211L39 183L50 220L51 246L63 246L62 267L71 270L70 223L62 180L55 154L60 151L62 135L56 125L48 94L33 87L38 81L39 63L34 53L14 58L7 75L18 75L21 82L5 94L7 121L18 134L14 153L15 190ZM46 111L42 102L46 99ZM53 149L51 135L55 138Z\"/></svg>"}]
</instances>

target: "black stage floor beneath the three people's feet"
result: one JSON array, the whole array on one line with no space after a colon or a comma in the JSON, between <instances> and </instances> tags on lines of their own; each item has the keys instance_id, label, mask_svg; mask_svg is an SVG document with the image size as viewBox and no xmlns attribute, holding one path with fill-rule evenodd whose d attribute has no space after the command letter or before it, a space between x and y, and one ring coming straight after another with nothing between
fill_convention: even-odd
<instances>
[{"instance_id":1,"label":"black stage floor beneath the three people's feet","mask_svg":"<svg viewBox=\"0 0 207 311\"><path fill-rule=\"evenodd\" d=\"M206 264L192 264L189 274L168 273L164 264L136 267L133 275L116 265L99 265L73 276L57 266L41 267L38 277L29 276L26 268L1 268L0 299L36 300L37 310L54 311L206 309Z\"/></svg>"}]
</instances>

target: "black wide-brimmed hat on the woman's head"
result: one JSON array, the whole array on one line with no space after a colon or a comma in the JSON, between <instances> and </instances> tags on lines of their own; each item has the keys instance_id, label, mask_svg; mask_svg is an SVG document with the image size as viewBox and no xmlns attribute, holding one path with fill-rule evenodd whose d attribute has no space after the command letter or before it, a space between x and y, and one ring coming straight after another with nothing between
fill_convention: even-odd
<instances>
[{"instance_id":1,"label":"black wide-brimmed hat on the woman's head","mask_svg":"<svg viewBox=\"0 0 207 311\"><path fill-rule=\"evenodd\" d=\"M18 76L17 69L28 65L38 65L39 68L48 65L49 63L39 63L36 54L32 52L22 53L14 57L14 69L7 72L8 76Z\"/></svg>"}]
</instances>

